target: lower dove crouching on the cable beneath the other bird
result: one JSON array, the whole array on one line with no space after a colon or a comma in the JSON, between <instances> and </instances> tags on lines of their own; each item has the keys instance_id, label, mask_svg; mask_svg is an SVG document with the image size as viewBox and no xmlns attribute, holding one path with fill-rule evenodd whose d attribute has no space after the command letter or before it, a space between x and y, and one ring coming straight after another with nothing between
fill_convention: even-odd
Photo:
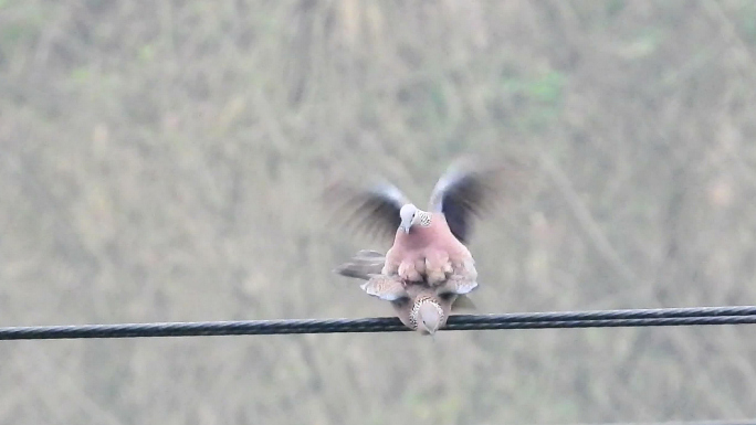
<instances>
[{"instance_id":1,"label":"lower dove crouching on the cable beneath the other bird","mask_svg":"<svg viewBox=\"0 0 756 425\"><path fill-rule=\"evenodd\" d=\"M475 281L448 279L431 286L424 281L409 285L395 274L381 273L385 256L376 251L361 249L350 261L339 265L335 273L366 280L360 285L368 295L389 301L399 320L409 329L433 336L443 328L449 316L461 309L475 309L466 296L475 289Z\"/></svg>"}]
</instances>

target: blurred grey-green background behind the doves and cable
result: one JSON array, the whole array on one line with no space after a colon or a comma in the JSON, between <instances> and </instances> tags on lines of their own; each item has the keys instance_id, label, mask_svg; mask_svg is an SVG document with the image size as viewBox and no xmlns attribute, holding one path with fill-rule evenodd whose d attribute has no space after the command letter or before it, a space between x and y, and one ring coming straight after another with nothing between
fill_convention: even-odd
<instances>
[{"instance_id":1,"label":"blurred grey-green background behind the doves and cable","mask_svg":"<svg viewBox=\"0 0 756 425\"><path fill-rule=\"evenodd\" d=\"M755 105L748 0L2 0L0 326L389 316L321 191L469 152L479 312L756 304ZM748 418L754 337L7 341L0 424Z\"/></svg>"}]
</instances>

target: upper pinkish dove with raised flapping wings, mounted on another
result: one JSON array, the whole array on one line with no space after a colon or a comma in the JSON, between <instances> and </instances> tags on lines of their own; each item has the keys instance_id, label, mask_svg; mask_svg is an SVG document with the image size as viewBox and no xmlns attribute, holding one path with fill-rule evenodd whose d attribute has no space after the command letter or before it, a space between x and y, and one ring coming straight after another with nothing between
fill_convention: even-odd
<instances>
[{"instance_id":1,"label":"upper pinkish dove with raised flapping wings, mounted on another","mask_svg":"<svg viewBox=\"0 0 756 425\"><path fill-rule=\"evenodd\" d=\"M338 206L344 226L393 236L382 275L396 274L405 284L424 281L430 286L441 285L450 276L474 283L477 270L468 247L472 221L490 211L502 192L506 164L458 159L433 187L427 211L385 179L366 188L338 181L326 194Z\"/></svg>"}]
</instances>

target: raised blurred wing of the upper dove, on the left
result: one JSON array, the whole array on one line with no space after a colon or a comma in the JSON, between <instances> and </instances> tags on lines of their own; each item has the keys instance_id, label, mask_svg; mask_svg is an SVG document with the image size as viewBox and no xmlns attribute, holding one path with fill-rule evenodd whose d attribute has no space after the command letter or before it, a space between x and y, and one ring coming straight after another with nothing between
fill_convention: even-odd
<instances>
[{"instance_id":1,"label":"raised blurred wing of the upper dove, on the left","mask_svg":"<svg viewBox=\"0 0 756 425\"><path fill-rule=\"evenodd\" d=\"M335 209L339 226L389 240L401 223L399 210L409 203L397 187L385 181L368 188L337 182L327 188L325 199Z\"/></svg>"}]
</instances>

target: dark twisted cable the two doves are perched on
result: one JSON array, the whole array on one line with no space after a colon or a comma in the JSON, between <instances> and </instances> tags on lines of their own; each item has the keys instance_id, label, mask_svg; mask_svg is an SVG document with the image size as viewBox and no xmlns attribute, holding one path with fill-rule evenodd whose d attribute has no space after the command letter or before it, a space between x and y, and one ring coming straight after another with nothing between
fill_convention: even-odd
<instances>
[{"instance_id":1,"label":"dark twisted cable the two doves are perched on","mask_svg":"<svg viewBox=\"0 0 756 425\"><path fill-rule=\"evenodd\" d=\"M756 323L756 306L459 315L443 330ZM397 318L70 325L0 328L0 340L409 331Z\"/></svg>"}]
</instances>

